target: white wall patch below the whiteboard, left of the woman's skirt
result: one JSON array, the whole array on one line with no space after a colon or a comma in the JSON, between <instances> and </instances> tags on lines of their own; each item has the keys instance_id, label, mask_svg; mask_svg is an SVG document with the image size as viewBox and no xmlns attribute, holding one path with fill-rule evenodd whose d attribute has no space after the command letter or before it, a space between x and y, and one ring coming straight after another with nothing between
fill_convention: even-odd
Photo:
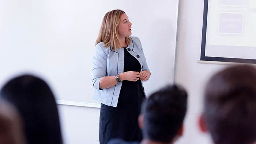
<instances>
[{"instance_id":1,"label":"white wall patch below the whiteboard, left of the woman's skirt","mask_svg":"<svg viewBox=\"0 0 256 144\"><path fill-rule=\"evenodd\" d=\"M64 144L99 144L99 108L58 105Z\"/></svg>"}]
</instances>

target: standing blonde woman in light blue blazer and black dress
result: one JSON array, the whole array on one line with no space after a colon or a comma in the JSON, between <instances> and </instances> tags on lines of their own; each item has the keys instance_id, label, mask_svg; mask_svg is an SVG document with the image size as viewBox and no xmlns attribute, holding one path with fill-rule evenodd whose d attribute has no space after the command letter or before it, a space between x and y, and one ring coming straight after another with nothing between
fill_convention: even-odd
<instances>
[{"instance_id":1,"label":"standing blonde woman in light blue blazer and black dress","mask_svg":"<svg viewBox=\"0 0 256 144\"><path fill-rule=\"evenodd\" d=\"M122 10L108 12L102 21L93 57L93 99L101 102L99 141L114 137L141 141L138 126L145 98L142 81L150 77L139 38L129 37L131 25Z\"/></svg>"}]
</instances>

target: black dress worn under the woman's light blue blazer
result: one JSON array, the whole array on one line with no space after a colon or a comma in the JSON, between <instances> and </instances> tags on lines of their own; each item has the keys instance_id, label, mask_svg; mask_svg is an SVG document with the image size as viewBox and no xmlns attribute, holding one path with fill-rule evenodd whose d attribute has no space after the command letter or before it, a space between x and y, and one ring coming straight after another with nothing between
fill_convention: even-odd
<instances>
[{"instance_id":1,"label":"black dress worn under the woman's light blue blazer","mask_svg":"<svg viewBox=\"0 0 256 144\"><path fill-rule=\"evenodd\" d=\"M140 68L139 61L124 48L124 72L140 72ZM142 140L142 133L138 126L138 116L143 99L145 99L145 95L141 81L124 80L117 107L101 103L99 117L100 144L106 144L112 138L138 142Z\"/></svg>"}]
</instances>

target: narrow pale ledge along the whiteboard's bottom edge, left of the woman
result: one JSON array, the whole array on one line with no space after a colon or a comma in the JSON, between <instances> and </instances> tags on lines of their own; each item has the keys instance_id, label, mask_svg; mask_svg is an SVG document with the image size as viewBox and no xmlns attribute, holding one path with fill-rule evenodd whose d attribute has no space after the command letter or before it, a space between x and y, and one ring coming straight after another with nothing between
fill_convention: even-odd
<instances>
[{"instance_id":1,"label":"narrow pale ledge along the whiteboard's bottom edge, left of the woman","mask_svg":"<svg viewBox=\"0 0 256 144\"><path fill-rule=\"evenodd\" d=\"M63 101L63 100L55 100L55 101L59 105L101 108L101 104L99 104L99 103L74 102L74 101Z\"/></svg>"}]
</instances>

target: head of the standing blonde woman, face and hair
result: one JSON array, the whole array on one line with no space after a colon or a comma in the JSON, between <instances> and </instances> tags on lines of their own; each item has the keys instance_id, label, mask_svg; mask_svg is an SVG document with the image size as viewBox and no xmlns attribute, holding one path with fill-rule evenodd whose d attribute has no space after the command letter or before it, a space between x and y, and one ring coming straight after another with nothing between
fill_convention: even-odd
<instances>
[{"instance_id":1,"label":"head of the standing blonde woman, face and hair","mask_svg":"<svg viewBox=\"0 0 256 144\"><path fill-rule=\"evenodd\" d=\"M103 42L105 47L111 45L111 49L122 48L120 39L125 38L127 45L131 43L129 36L131 33L131 25L128 16L122 10L112 10L108 12L101 24L96 45Z\"/></svg>"}]
</instances>

